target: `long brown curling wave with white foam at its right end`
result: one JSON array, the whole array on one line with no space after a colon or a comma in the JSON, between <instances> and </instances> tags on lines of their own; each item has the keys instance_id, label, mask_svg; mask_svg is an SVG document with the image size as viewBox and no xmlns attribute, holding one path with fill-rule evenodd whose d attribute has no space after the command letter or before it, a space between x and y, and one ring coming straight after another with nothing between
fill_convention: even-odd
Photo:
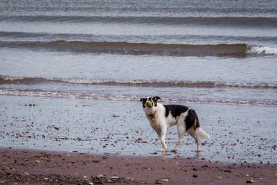
<instances>
[{"instance_id":1,"label":"long brown curling wave with white foam at its right end","mask_svg":"<svg viewBox=\"0 0 277 185\"><path fill-rule=\"evenodd\" d=\"M81 42L58 40L52 42L0 42L0 47L48 49L73 53L115 53L127 55L170 55L170 56L229 56L277 55L277 48L248 46L247 44L148 44L129 42Z\"/></svg>"}]
</instances>

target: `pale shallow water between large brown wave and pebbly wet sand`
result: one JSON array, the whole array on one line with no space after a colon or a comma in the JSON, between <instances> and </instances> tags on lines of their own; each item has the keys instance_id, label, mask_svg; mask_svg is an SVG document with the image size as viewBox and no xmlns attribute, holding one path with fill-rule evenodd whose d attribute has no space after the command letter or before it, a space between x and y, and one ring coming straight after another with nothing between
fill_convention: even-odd
<instances>
[{"instance_id":1,"label":"pale shallow water between large brown wave and pebbly wet sand","mask_svg":"<svg viewBox=\"0 0 277 185\"><path fill-rule=\"evenodd\" d=\"M0 53L0 94L107 100L159 94L167 101L277 105L271 56L261 65L261 58Z\"/></svg>"}]
</instances>

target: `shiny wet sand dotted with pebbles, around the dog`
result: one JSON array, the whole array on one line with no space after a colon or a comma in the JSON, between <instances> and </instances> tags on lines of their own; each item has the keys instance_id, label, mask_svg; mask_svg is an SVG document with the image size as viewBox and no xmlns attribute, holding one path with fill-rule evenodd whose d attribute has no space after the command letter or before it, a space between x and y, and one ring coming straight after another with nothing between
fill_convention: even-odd
<instances>
[{"instance_id":1,"label":"shiny wet sand dotted with pebbles, around the dog","mask_svg":"<svg viewBox=\"0 0 277 185\"><path fill-rule=\"evenodd\" d=\"M0 147L78 151L92 155L161 156L161 142L145 118L141 103L0 96ZM164 103L166 104L166 103ZM196 110L211 139L185 135L177 154L168 157L232 163L276 164L277 107L184 104ZM177 127L166 136L169 149L178 141Z\"/></svg>"}]
</instances>

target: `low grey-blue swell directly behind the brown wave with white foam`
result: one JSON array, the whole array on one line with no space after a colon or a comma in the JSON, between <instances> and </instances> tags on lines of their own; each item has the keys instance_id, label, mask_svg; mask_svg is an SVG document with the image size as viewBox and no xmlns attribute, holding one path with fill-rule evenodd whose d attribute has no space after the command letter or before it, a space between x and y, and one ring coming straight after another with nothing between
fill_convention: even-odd
<instances>
[{"instance_id":1,"label":"low grey-blue swell directly behind the brown wave with white foam","mask_svg":"<svg viewBox=\"0 0 277 185\"><path fill-rule=\"evenodd\" d=\"M269 43L274 46L277 43L277 37L272 36L239 36L239 35L159 35L159 38L163 38L163 44L184 44L188 43L199 43L199 41L208 41L209 43ZM53 41L53 40L64 40L64 41L86 41L86 42L147 42L151 44L159 43L159 39L155 35L94 35L94 34L78 34L78 33L30 33L30 32L6 32L0 31L0 37L6 37L7 40L16 41ZM6 40L6 41L7 41ZM215 42L211 42L215 41Z\"/></svg>"}]
</instances>

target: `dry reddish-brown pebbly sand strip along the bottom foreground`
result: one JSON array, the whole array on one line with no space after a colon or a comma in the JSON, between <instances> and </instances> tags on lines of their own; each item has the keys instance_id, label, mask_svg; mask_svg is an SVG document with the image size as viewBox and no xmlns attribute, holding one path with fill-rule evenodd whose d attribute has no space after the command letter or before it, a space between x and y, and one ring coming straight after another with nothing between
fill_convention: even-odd
<instances>
[{"instance_id":1,"label":"dry reddish-brown pebbly sand strip along the bottom foreground","mask_svg":"<svg viewBox=\"0 0 277 185\"><path fill-rule=\"evenodd\" d=\"M0 148L4 184L275 184L277 164Z\"/></svg>"}]
</instances>

